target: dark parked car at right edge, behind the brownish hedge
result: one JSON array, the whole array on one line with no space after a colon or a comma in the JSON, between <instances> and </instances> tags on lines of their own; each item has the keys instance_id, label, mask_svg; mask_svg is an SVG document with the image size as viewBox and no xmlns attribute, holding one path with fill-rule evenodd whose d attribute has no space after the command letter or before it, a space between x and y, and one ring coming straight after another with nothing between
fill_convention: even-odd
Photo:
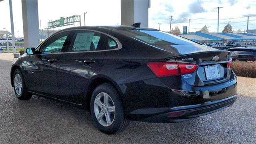
<instances>
[{"instance_id":1,"label":"dark parked car at right edge, behind the brownish hedge","mask_svg":"<svg viewBox=\"0 0 256 144\"><path fill-rule=\"evenodd\" d=\"M230 48L231 58L234 61L256 61L256 47Z\"/></svg>"}]
</instances>

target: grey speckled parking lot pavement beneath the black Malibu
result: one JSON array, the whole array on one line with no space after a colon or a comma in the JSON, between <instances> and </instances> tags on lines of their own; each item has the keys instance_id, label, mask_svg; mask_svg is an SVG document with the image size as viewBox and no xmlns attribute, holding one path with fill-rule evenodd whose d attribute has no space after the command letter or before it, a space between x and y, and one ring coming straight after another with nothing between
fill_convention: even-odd
<instances>
[{"instance_id":1,"label":"grey speckled parking lot pavement beneath the black Malibu","mask_svg":"<svg viewBox=\"0 0 256 144\"><path fill-rule=\"evenodd\" d=\"M0 55L1 57L1 55ZM18 100L10 86L10 60L0 60L0 143L255 143L256 96L239 95L233 106L200 118L169 124L132 121L106 135L83 108L33 96ZM241 81L240 81L241 79ZM238 86L256 79L238 78ZM255 84L254 87L255 88ZM246 92L245 92L246 91ZM238 94L255 92L239 88Z\"/></svg>"}]
</instances>

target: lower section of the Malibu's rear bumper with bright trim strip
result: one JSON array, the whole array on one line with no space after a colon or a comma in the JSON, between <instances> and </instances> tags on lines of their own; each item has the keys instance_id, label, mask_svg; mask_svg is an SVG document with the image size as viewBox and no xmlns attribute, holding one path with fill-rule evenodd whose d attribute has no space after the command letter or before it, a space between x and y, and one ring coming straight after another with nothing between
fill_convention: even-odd
<instances>
[{"instance_id":1,"label":"lower section of the Malibu's rear bumper with bright trim strip","mask_svg":"<svg viewBox=\"0 0 256 144\"><path fill-rule=\"evenodd\" d=\"M142 119L141 121L167 123L167 122L182 122L186 120L191 120L198 116L211 114L213 112L222 110L226 107L232 106L232 104L236 101L236 98L237 98L237 95L234 95L228 98L224 98L222 100L206 102L203 104L174 107L174 108L170 108L169 112L164 112L161 114L150 116L148 118ZM174 115L169 116L169 114L171 115L174 114Z\"/></svg>"}]
</instances>

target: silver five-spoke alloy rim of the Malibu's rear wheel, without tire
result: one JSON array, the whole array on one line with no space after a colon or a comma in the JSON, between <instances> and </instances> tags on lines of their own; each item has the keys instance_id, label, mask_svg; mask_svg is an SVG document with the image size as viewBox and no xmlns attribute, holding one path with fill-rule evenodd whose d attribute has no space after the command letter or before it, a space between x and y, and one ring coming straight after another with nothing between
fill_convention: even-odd
<instances>
[{"instance_id":1,"label":"silver five-spoke alloy rim of the Malibu's rear wheel, without tire","mask_svg":"<svg viewBox=\"0 0 256 144\"><path fill-rule=\"evenodd\" d=\"M116 108L112 98L107 93L101 92L96 96L94 114L102 126L110 126L114 122Z\"/></svg>"}]
</instances>

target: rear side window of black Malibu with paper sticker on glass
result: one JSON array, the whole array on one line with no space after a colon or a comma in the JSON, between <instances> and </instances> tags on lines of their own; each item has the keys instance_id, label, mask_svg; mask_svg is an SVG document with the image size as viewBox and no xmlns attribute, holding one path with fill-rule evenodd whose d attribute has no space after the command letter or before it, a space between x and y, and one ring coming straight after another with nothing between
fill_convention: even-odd
<instances>
[{"instance_id":1,"label":"rear side window of black Malibu with paper sticker on glass","mask_svg":"<svg viewBox=\"0 0 256 144\"><path fill-rule=\"evenodd\" d=\"M78 31L74 38L72 52L111 50L118 48L117 42L109 36L94 31Z\"/></svg>"}]
</instances>

